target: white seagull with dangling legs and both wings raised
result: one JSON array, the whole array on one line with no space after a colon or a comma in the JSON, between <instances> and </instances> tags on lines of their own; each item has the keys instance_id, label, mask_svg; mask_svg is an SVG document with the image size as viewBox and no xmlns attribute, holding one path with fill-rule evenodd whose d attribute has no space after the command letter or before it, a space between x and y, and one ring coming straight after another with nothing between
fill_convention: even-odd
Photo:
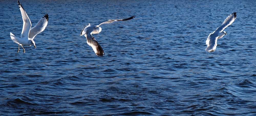
<instances>
[{"instance_id":1,"label":"white seagull with dangling legs and both wings raised","mask_svg":"<svg viewBox=\"0 0 256 116\"><path fill-rule=\"evenodd\" d=\"M36 44L34 42L34 38L37 34L39 34L40 32L42 32L45 27L48 24L48 14L45 14L36 24L35 27L31 28L31 22L30 19L28 18L28 15L26 13L26 11L24 10L24 8L22 7L22 5L19 3L19 1L17 0L18 4L19 4L19 9L22 15L22 19L23 19L23 28L22 28L22 32L21 32L21 36L16 37L14 36L11 32L10 32L10 37L13 40L13 42L17 43L19 46L21 46L23 48L23 45L27 45L27 46L31 46L33 45L36 48ZM30 29L31 28L31 29ZM19 52L19 46L18 46L18 52ZM23 52L25 53L25 49L23 48Z\"/></svg>"}]
</instances>

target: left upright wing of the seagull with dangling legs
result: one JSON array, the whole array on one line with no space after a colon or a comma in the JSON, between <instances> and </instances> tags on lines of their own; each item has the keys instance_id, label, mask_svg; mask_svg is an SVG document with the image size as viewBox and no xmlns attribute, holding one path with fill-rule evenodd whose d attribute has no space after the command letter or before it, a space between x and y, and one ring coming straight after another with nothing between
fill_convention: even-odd
<instances>
[{"instance_id":1,"label":"left upright wing of the seagull with dangling legs","mask_svg":"<svg viewBox=\"0 0 256 116\"><path fill-rule=\"evenodd\" d=\"M28 38L29 30L31 28L31 22L28 18L28 15L27 15L26 11L22 7L22 5L19 3L19 1L17 1L17 2L19 4L19 9L20 9L22 19L23 19L23 28L22 28L20 38L24 38L24 37Z\"/></svg>"}]
</instances>

